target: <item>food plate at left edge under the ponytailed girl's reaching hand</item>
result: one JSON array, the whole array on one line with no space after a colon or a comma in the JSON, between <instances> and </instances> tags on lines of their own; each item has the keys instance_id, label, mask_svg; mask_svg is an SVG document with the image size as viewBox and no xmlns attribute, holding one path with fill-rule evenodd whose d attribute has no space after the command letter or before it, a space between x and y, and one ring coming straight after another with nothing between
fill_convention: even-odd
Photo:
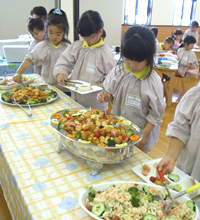
<instances>
[{"instance_id":1,"label":"food plate at left edge under the ponytailed girl's reaching hand","mask_svg":"<svg viewBox=\"0 0 200 220\"><path fill-rule=\"evenodd\" d=\"M34 74L22 75L22 82L24 84L32 83L37 78ZM12 88L18 87L19 83L13 81L12 76L0 77L0 89L10 90Z\"/></svg>"}]
</instances>

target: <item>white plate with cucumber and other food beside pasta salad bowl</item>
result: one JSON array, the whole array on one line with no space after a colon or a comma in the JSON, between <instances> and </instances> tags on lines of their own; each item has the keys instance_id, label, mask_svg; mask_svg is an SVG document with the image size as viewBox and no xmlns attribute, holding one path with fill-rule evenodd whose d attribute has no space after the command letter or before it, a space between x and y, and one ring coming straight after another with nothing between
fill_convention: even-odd
<instances>
[{"instance_id":1,"label":"white plate with cucumber and other food beside pasta salad bowl","mask_svg":"<svg viewBox=\"0 0 200 220\"><path fill-rule=\"evenodd\" d=\"M153 183L155 185L163 186L160 178L156 177L156 167L161 161L161 158L148 161L144 164L137 165L132 168L132 171L142 178L147 183ZM192 177L184 173L178 167L174 167L171 174L165 175L165 180L168 187L172 190L180 192L189 188L192 185L198 183ZM189 198L194 198L200 194L200 190L196 190L192 193L187 194Z\"/></svg>"}]
</instances>

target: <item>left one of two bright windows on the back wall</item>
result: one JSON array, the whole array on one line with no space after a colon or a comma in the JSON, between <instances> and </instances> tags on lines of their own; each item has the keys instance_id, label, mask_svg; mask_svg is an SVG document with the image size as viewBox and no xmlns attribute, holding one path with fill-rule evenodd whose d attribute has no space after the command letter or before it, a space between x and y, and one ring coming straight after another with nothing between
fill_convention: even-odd
<instances>
[{"instance_id":1,"label":"left one of two bright windows on the back wall","mask_svg":"<svg viewBox=\"0 0 200 220\"><path fill-rule=\"evenodd\" d=\"M125 0L124 9L124 24L150 24L152 0Z\"/></svg>"}]
</instances>

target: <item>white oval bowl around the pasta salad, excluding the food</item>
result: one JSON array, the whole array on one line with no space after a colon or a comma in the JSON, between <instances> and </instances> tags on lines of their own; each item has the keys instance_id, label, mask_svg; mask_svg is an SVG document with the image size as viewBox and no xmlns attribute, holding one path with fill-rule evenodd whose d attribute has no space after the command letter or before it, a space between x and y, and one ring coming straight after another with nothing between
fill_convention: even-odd
<instances>
[{"instance_id":1,"label":"white oval bowl around the pasta salad, excluding the food","mask_svg":"<svg viewBox=\"0 0 200 220\"><path fill-rule=\"evenodd\" d=\"M149 186L149 187L154 187L156 189L162 190L164 189L162 186L155 186L155 184L150 184L150 183L142 183L142 182L132 182L132 181L113 181L113 182L107 182L107 183L100 183L100 184L96 184L96 185L92 185L93 188L96 191L104 191L106 190L109 186L111 185L116 185L116 184L120 184L120 183L137 183L140 186ZM177 192L175 192L174 190L169 189L170 194L173 196L175 194L177 194ZM81 206L81 208L87 213L87 215L89 216L89 218L91 220L102 220L102 218L99 218L95 215L92 214L92 212L90 212L86 207L85 207L85 203L86 203L86 199L88 198L88 193L89 193L89 188L86 188L83 190L83 192L80 194L79 196L79 204ZM190 201L190 199L186 196L181 196L179 198L177 198L176 200L178 200L181 203L186 203L187 201ZM196 205L196 217L194 218L194 220L198 220L199 217L199 208Z\"/></svg>"}]
</instances>

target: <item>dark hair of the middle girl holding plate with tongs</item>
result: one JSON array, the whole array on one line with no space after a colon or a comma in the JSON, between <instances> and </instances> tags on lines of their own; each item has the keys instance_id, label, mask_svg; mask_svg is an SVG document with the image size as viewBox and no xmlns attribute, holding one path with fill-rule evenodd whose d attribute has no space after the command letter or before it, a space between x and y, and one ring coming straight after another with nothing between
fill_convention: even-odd
<instances>
[{"instance_id":1,"label":"dark hair of the middle girl holding plate with tongs","mask_svg":"<svg viewBox=\"0 0 200 220\"><path fill-rule=\"evenodd\" d=\"M78 33L86 37L103 29L104 23L99 12L88 10L81 15L76 27Z\"/></svg>"}]
</instances>

